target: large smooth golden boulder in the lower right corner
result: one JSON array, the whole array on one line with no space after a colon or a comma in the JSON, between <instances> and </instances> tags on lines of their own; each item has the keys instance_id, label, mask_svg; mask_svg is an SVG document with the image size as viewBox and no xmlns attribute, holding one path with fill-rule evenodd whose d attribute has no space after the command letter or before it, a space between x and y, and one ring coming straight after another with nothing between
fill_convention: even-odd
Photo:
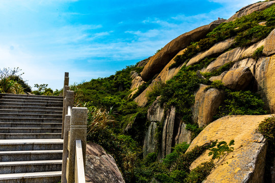
<instances>
[{"instance_id":1,"label":"large smooth golden boulder in the lower right corner","mask_svg":"<svg viewBox=\"0 0 275 183\"><path fill-rule=\"evenodd\" d=\"M207 182L263 182L266 140L257 131L259 123L270 115L225 116L209 124L190 144L187 151L196 145L202 146L216 139L229 143L234 140L234 150L221 159L215 159L215 167L204 181ZM190 169L209 161L206 150Z\"/></svg>"}]
</instances>

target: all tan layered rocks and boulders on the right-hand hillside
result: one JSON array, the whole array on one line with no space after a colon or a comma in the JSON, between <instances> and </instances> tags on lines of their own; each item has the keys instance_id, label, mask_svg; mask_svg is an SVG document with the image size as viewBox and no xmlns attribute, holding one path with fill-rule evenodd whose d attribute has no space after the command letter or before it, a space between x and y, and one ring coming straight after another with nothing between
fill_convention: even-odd
<instances>
[{"instance_id":1,"label":"all tan layered rocks and boulders on the right-hand hillside","mask_svg":"<svg viewBox=\"0 0 275 183\"><path fill-rule=\"evenodd\" d=\"M246 6L227 22L255 11L264 10L273 4L275 1ZM261 26L266 26L266 22L258 23ZM213 28L211 26L216 25L202 26L179 36L150 58L141 73L141 78L144 81L153 77L155 79L140 96L134 99L139 106L146 106L148 93L160 82L166 83L172 79L182 67L196 65L206 57L215 57L216 59L207 67L197 72L216 71L232 62L231 68L227 68L226 72L211 77L209 80L221 80L225 87L233 91L251 90L257 92L265 102L265 109L270 113L275 112L275 29L267 38L258 42L252 41L253 44L246 47L233 47L235 46L234 37L218 42L208 50L186 60L180 66L170 69L170 66L175 63L174 58L186 51L185 48L191 40L195 41L204 37ZM255 56L255 53L259 52L259 48L262 47L263 52L260 52L259 56ZM202 77L202 75L200 76ZM158 159L162 159L172 152L175 144L181 142L191 143L188 149L191 150L195 145L205 145L216 139L219 142L226 141L227 143L235 140L234 151L221 159L214 160L215 167L205 182L262 182L267 144L263 136L257 132L257 128L260 121L269 115L225 116L212 122L213 116L224 102L225 94L221 89L207 87L207 85L201 84L194 93L193 121L205 129L192 142L192 134L186 130L186 124L182 122L182 116L176 112L175 107L172 106L164 110L158 100L149 107L147 120L150 125L144 140L144 157L155 152L158 153ZM159 132L160 129L162 129L161 132ZM209 151L206 151L193 162L190 169L194 169L202 162L209 161L211 157L208 156L208 153Z\"/></svg>"}]
</instances>

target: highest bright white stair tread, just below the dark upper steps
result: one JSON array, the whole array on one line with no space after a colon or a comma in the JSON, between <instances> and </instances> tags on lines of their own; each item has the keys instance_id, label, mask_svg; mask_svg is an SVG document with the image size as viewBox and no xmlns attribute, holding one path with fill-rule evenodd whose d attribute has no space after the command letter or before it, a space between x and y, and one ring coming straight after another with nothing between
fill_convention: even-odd
<instances>
[{"instance_id":1,"label":"highest bright white stair tread, just below the dark upper steps","mask_svg":"<svg viewBox=\"0 0 275 183\"><path fill-rule=\"evenodd\" d=\"M2 144L53 144L63 143L63 139L0 139Z\"/></svg>"}]
</instances>

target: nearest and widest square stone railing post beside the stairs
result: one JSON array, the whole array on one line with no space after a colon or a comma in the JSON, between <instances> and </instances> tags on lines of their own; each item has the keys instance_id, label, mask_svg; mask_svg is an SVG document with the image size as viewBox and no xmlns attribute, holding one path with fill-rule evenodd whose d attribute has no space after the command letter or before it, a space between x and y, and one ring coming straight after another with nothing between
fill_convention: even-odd
<instances>
[{"instance_id":1,"label":"nearest and widest square stone railing post beside the stairs","mask_svg":"<svg viewBox=\"0 0 275 183\"><path fill-rule=\"evenodd\" d=\"M71 111L70 137L68 142L69 156L66 168L68 183L74 182L75 168L75 140L81 140L83 163L86 165L86 135L87 135L87 114L86 107L73 107Z\"/></svg>"}]
</instances>

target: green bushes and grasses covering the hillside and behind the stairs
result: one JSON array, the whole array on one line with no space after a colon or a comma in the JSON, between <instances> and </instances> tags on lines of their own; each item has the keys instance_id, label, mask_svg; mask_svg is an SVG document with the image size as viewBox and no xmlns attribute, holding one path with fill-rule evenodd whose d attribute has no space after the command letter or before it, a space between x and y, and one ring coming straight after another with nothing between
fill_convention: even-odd
<instances>
[{"instance_id":1,"label":"green bushes and grasses covering the hillside and behind the stairs","mask_svg":"<svg viewBox=\"0 0 275 183\"><path fill-rule=\"evenodd\" d=\"M264 25L259 24L260 22L264 22ZM225 159L229 153L238 151L243 145L234 146L240 144L235 139L228 141L211 139L209 143L204 145L190 145L190 142L200 132L207 129L207 125L221 117L227 115L265 115L269 114L271 110L266 102L269 99L268 96L266 97L262 95L261 91L259 92L265 88L259 89L260 81L255 78L254 71L249 70L251 77L246 83L248 86L241 89L223 82L224 78L220 77L222 74L225 75L238 69L241 60L252 59L256 63L255 65L264 62L266 57L263 55L264 46L257 47L250 56L240 57L237 60L227 60L227 63L210 72L204 72L204 70L222 54L229 53L236 48L248 49L264 40L274 29L275 5L263 11L236 18L234 21L221 23L205 38L190 43L182 54L175 57L174 64L169 69L185 64L172 79L161 82L156 81L156 77L151 78L136 88L136 92L132 96L130 95L133 92L130 90L133 80L131 75L134 72L139 75L144 69L144 67L137 67L139 63L127 66L106 78L92 79L88 82L71 85L70 89L75 92L74 105L87 107L89 111L87 140L100 144L107 153L114 157L125 182L202 182L218 166L216 164L218 161ZM191 58L229 38L234 39L234 44L228 49L221 53L211 54L195 64L186 66ZM254 70L256 70L255 67ZM210 79L213 76L222 79ZM12 77L10 76L8 79ZM20 76L18 78L19 82ZM15 80L13 81L17 82ZM3 84L6 82L5 78L1 78L1 82L1 91L7 92L5 84ZM264 84L267 85L266 82ZM36 86L38 90L34 92L35 94L59 95L61 93L61 90L50 91L46 88L47 85ZM140 107L134 99L149 87L151 89L146 93L147 103ZM22 93L24 89L27 92L28 87L22 85L21 88L17 89L19 92L14 93ZM213 110L210 121L203 125L194 117L194 113L196 113L195 98L199 90L202 90L202 93L214 90L222 96L221 104L217 106L216 110ZM150 121L148 120L148 109L150 110L150 106L155 101L159 103L160 108L163 108L164 117L159 121ZM185 130L186 133L191 134L190 142L177 143L173 140L170 144L171 152L162 158L160 152L163 151L164 123L168 120L169 115L171 116L173 108L176 109L174 121L179 121L178 126L184 125L184 129L181 131ZM144 139L152 123L155 123L156 126L155 133L152 135L156 141L156 147L154 151L144 156ZM176 129L176 125L172 129ZM231 129L234 129L234 126ZM272 147L275 143L274 129L274 117L265 119L259 127L259 132L271 144L267 148L269 163L266 163L265 167L265 182L269 182L271 178L270 167L273 165L270 162L273 162L274 157L274 148ZM177 129L175 131L178 132ZM172 136L175 138L175 134ZM189 145L192 148L188 148ZM190 169L192 163L203 155L210 157L208 161L196 164L193 169ZM230 164L229 160L224 164Z\"/></svg>"}]
</instances>

